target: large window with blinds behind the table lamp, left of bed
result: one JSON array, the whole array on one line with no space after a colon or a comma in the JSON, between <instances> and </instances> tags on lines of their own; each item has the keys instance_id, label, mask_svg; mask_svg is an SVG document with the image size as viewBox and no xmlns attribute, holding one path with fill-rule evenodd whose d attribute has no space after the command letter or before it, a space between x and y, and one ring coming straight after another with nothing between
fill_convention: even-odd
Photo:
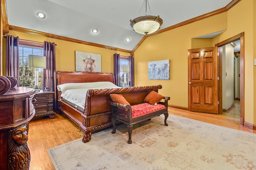
<instances>
[{"instance_id":1,"label":"large window with blinds behind the table lamp, left of bed","mask_svg":"<svg viewBox=\"0 0 256 170\"><path fill-rule=\"evenodd\" d=\"M28 66L28 56L29 55L44 55L44 48L42 45L34 46L28 45L29 42L22 41L19 45L19 65L20 65L20 86L39 88L42 89L42 74L43 68L30 68ZM36 71L38 70L38 87L35 87L36 82Z\"/></svg>"}]
</instances>

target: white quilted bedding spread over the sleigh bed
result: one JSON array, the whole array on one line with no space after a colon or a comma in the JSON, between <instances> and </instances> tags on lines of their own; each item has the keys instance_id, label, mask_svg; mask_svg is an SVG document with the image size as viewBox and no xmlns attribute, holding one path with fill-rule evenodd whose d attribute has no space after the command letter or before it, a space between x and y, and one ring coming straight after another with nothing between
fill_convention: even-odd
<instances>
[{"instance_id":1,"label":"white quilted bedding spread over the sleigh bed","mask_svg":"<svg viewBox=\"0 0 256 170\"><path fill-rule=\"evenodd\" d=\"M112 82L90 82L90 83L66 83L57 86L61 91L61 97L75 104L75 106L85 106L85 97L89 89L120 88Z\"/></svg>"}]
</instances>

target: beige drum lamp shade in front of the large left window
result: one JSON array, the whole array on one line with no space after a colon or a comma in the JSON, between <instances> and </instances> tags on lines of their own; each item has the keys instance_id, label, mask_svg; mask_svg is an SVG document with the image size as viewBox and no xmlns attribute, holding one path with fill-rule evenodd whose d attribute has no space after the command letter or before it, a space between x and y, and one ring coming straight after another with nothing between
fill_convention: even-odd
<instances>
[{"instance_id":1,"label":"beige drum lamp shade in front of the large left window","mask_svg":"<svg viewBox=\"0 0 256 170\"><path fill-rule=\"evenodd\" d=\"M46 68L46 57L40 55L29 55L28 66L33 68Z\"/></svg>"}]
</instances>

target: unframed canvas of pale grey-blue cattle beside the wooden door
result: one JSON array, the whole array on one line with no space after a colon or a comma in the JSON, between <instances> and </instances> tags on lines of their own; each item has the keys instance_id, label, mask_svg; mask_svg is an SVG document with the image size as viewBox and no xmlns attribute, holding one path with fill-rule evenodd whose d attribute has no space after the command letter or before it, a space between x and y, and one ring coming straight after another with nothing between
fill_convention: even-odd
<instances>
[{"instance_id":1,"label":"unframed canvas of pale grey-blue cattle beside the wooden door","mask_svg":"<svg viewBox=\"0 0 256 170\"><path fill-rule=\"evenodd\" d=\"M148 62L148 79L169 80L170 60Z\"/></svg>"}]
</instances>

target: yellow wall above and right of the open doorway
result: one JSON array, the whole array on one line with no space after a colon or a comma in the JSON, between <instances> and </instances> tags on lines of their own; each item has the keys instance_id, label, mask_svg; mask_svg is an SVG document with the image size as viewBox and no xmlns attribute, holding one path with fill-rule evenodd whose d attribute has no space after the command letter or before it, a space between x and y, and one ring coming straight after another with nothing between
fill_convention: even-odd
<instances>
[{"instance_id":1,"label":"yellow wall above and right of the open doorway","mask_svg":"<svg viewBox=\"0 0 256 170\"><path fill-rule=\"evenodd\" d=\"M256 125L254 66L254 0L242 0L228 13L228 29L214 37L213 44L244 32L244 121ZM255 20L255 19L254 19Z\"/></svg>"}]
</instances>

